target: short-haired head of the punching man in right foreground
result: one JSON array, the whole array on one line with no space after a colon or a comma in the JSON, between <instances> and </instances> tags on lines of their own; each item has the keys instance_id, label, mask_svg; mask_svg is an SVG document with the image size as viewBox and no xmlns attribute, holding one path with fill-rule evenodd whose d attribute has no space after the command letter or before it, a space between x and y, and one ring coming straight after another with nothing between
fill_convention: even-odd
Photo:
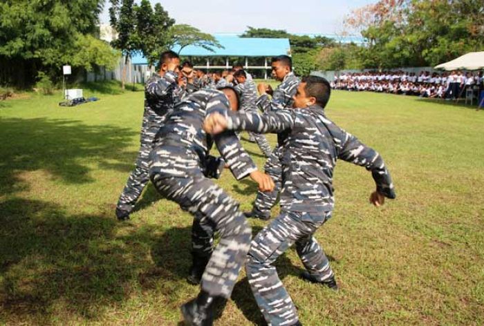
<instances>
[{"instance_id":1,"label":"short-haired head of the punching man in right foreground","mask_svg":"<svg viewBox=\"0 0 484 326\"><path fill-rule=\"evenodd\" d=\"M331 86L323 77L306 76L303 77L294 98L295 108L307 108L312 105L326 107L331 95Z\"/></svg>"}]
</instances>

